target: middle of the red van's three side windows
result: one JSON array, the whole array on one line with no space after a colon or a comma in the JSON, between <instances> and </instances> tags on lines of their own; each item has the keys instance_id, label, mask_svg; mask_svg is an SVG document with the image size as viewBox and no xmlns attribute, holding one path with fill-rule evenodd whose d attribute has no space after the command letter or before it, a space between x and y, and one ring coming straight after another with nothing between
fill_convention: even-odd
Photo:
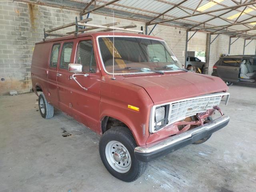
<instances>
[{"instance_id":1,"label":"middle of the red van's three side windows","mask_svg":"<svg viewBox=\"0 0 256 192\"><path fill-rule=\"evenodd\" d=\"M60 56L60 68L68 69L68 64L70 64L72 48L73 48L73 42L64 43L61 56Z\"/></svg>"}]
</instances>

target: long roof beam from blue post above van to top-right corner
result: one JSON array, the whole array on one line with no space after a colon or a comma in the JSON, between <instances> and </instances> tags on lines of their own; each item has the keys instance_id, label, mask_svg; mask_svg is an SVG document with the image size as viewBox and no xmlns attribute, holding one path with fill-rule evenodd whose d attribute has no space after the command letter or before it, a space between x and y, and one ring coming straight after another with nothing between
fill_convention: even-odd
<instances>
[{"instance_id":1,"label":"long roof beam from blue post above van to top-right corner","mask_svg":"<svg viewBox=\"0 0 256 192\"><path fill-rule=\"evenodd\" d=\"M221 8L221 9L216 9L216 10L211 10L211 11L207 11L207 12L192 14L192 15L178 17L178 18L174 18L174 19L168 19L168 20L164 20L164 21L160 21L160 22L155 22L155 23L147 22L147 25L160 24L160 23L170 22L170 21L184 19L184 18L188 18L188 17L204 15L204 14L208 14L208 13L224 11L224 10L233 9L233 8L239 8L239 7L248 6L248 5L252 5L252 4L256 4L256 2L250 2L250 3L246 3L246 4L242 4L242 5L235 5L235 6L225 7L225 8Z\"/></svg>"}]
</instances>

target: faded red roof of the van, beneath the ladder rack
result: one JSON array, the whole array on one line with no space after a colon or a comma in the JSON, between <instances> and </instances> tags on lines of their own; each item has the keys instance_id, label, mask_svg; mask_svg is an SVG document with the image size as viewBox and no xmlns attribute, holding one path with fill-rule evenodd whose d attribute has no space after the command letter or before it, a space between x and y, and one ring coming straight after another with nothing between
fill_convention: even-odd
<instances>
[{"instance_id":1,"label":"faded red roof of the van, beneath the ladder rack","mask_svg":"<svg viewBox=\"0 0 256 192\"><path fill-rule=\"evenodd\" d=\"M92 37L96 38L97 36L108 36L108 35L112 36L113 32L112 31L111 32L87 32L87 33L80 33L77 35L77 37L74 34L71 34L68 36L48 39L46 41L41 41L36 44L56 42L56 41L61 41L61 40L75 39L75 38L81 38L81 37L87 37L87 36L92 36ZM162 38L159 38L159 37L154 37L154 36L149 36L149 35L144 35L144 34L127 33L127 32L114 32L114 35L115 36L136 36L136 37L142 37L142 38L154 38L157 40L163 40Z\"/></svg>"}]
</instances>

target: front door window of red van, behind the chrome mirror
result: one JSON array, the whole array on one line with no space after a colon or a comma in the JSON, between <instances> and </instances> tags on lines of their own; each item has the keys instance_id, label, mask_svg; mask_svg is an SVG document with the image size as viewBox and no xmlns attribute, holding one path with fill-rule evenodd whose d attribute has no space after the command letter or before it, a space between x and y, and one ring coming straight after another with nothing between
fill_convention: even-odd
<instances>
[{"instance_id":1,"label":"front door window of red van, behind the chrome mirror","mask_svg":"<svg viewBox=\"0 0 256 192\"><path fill-rule=\"evenodd\" d=\"M79 42L76 64L82 64L83 72L96 72L96 61L92 47L92 40Z\"/></svg>"}]
</instances>

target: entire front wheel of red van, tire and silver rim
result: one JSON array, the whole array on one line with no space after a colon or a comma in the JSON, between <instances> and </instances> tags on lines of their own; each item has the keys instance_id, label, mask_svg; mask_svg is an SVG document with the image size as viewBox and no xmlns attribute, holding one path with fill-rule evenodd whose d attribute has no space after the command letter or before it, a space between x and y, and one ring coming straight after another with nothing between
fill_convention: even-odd
<instances>
[{"instance_id":1,"label":"entire front wheel of red van, tire and silver rim","mask_svg":"<svg viewBox=\"0 0 256 192\"><path fill-rule=\"evenodd\" d=\"M108 172L125 182L138 179L146 170L147 163L136 159L136 146L128 128L115 127L107 130L100 139L99 151Z\"/></svg>"}]
</instances>

